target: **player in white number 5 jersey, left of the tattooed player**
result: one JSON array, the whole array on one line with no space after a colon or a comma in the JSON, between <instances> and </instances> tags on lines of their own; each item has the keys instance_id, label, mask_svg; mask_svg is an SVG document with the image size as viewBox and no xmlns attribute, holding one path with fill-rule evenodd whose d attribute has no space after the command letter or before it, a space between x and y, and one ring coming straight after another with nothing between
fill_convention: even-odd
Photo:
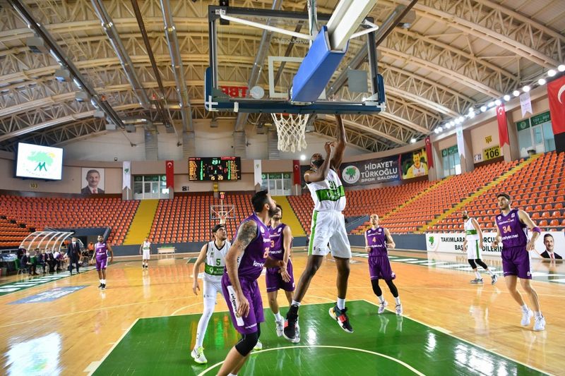
<instances>
[{"instance_id":1,"label":"player in white number 5 jersey, left of the tattooed player","mask_svg":"<svg viewBox=\"0 0 565 376\"><path fill-rule=\"evenodd\" d=\"M194 262L194 282L192 284L192 291L198 295L200 286L198 286L198 272L200 265L204 263L204 277L203 277L203 298L204 298L204 312L200 321L198 321L198 328L196 329L196 344L191 351L190 355L194 358L196 363L208 363L206 356L204 356L204 334L206 334L206 327L208 321L214 313L214 305L216 304L216 294L222 293L222 275L224 274L225 267L225 254L230 249L231 243L226 241L227 231L223 224L217 224L212 229L214 240L202 246L200 254Z\"/></svg>"}]
</instances>

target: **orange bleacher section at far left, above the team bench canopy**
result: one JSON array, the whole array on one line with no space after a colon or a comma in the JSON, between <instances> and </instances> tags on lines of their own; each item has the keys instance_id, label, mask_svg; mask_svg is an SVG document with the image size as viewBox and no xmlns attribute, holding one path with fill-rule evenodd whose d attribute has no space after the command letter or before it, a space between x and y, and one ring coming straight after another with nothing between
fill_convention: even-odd
<instances>
[{"instance_id":1,"label":"orange bleacher section at far left, above the team bench canopy","mask_svg":"<svg viewBox=\"0 0 565 376\"><path fill-rule=\"evenodd\" d=\"M123 243L139 202L121 198L40 198L0 195L0 215L30 229L111 227L108 241ZM25 236L21 237L23 240ZM19 245L19 243L18 243Z\"/></svg>"}]
</instances>

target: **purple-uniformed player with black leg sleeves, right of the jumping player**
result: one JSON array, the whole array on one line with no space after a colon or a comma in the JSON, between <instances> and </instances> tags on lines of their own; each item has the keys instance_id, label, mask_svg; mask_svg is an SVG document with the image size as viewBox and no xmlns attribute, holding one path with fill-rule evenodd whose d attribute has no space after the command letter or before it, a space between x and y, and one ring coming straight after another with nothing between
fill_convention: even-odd
<instances>
[{"instance_id":1,"label":"purple-uniformed player with black leg sleeves, right of the jumping player","mask_svg":"<svg viewBox=\"0 0 565 376\"><path fill-rule=\"evenodd\" d=\"M371 286L376 297L379 298L379 311L381 314L384 312L385 307L388 305L383 298L383 291L379 286L379 279L384 279L388 289L394 296L396 301L396 314L402 315L402 304L398 296L398 289L393 283L396 278L391 262L388 260L387 248L395 248L396 244L388 229L379 226L379 216L371 214L371 228L365 231L365 250L369 253L369 276L371 277Z\"/></svg>"}]
</instances>

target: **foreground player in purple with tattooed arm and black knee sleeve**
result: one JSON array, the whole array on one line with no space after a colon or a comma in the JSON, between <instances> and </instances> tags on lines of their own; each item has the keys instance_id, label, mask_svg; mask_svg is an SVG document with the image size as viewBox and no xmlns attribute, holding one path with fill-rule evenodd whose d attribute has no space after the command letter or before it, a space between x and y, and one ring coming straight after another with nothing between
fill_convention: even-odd
<instances>
[{"instance_id":1,"label":"foreground player in purple with tattooed arm and black knee sleeve","mask_svg":"<svg viewBox=\"0 0 565 376\"><path fill-rule=\"evenodd\" d=\"M254 214L239 225L235 241L225 255L222 292L230 316L242 339L232 347L218 375L237 375L261 335L263 301L257 284L263 267L279 267L286 272L283 260L268 257L270 233L266 223L275 214L276 202L268 191L261 190L251 198ZM238 262L238 257L239 262Z\"/></svg>"}]
</instances>

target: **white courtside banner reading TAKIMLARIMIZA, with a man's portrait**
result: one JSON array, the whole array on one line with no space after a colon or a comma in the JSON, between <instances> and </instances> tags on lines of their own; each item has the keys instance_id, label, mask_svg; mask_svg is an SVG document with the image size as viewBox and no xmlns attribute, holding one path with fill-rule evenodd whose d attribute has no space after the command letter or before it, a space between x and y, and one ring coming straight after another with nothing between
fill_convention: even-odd
<instances>
[{"instance_id":1,"label":"white courtside banner reading TAKIMLARIMIZA, with a man's portrait","mask_svg":"<svg viewBox=\"0 0 565 376\"><path fill-rule=\"evenodd\" d=\"M547 236L546 236L547 234ZM531 231L528 232L531 236ZM483 255L500 255L502 247L492 247L492 242L496 232L482 232L482 253ZM463 232L444 232L444 233L426 233L426 249L428 252L446 252L446 253L463 253L463 241L465 233ZM535 241L535 251L530 252L533 258L542 257L547 249L553 250L554 254L565 257L565 234L563 231L543 231Z\"/></svg>"}]
</instances>

